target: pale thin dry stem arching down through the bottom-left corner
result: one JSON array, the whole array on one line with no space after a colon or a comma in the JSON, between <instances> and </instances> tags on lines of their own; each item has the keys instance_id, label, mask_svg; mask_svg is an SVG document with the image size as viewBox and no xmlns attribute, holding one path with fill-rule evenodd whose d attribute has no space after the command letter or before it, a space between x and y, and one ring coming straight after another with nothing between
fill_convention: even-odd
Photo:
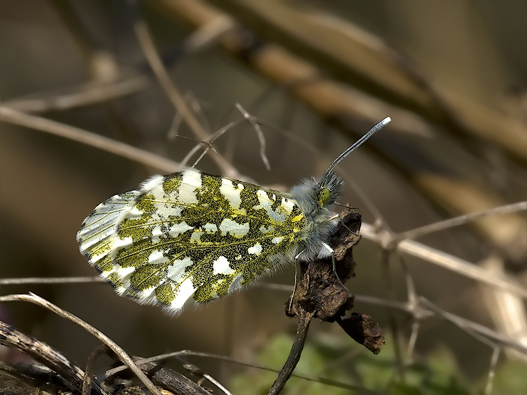
<instances>
[{"instance_id":1,"label":"pale thin dry stem arching down through the bottom-left corner","mask_svg":"<svg viewBox=\"0 0 527 395\"><path fill-rule=\"evenodd\" d=\"M41 305L42 307L45 307L48 310L53 311L55 314L60 315L62 318L65 318L67 320L70 320L77 325L79 325L81 328L85 329L88 333L92 334L94 337L99 339L101 342L106 344L108 348L110 348L115 354L119 357L121 362L123 362L128 368L137 376L139 380L143 382L145 387L147 387L150 392L152 392L154 395L161 395L161 392L157 388L155 388L154 384L150 379L146 376L146 374L143 373L141 369L135 364L135 362L130 358L130 356L121 348L118 344L116 344L112 339L110 339L108 336L106 336L104 333L99 331L98 329L92 327L89 323L81 320L79 317L76 317L76 315L73 315L70 312L67 312L65 310L62 310L60 307L54 305L51 302L48 302L47 300L33 294L16 294L16 295L5 295L3 297L0 297L0 302L12 302L12 301L26 301L31 302L34 304Z\"/></svg>"}]
</instances>

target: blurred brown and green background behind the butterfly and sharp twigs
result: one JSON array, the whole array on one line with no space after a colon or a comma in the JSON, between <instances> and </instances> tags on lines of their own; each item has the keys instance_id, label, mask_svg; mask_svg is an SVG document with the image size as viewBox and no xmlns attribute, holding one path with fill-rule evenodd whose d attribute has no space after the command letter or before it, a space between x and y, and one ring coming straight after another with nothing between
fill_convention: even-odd
<instances>
[{"instance_id":1,"label":"blurred brown and green background behind the butterfly and sharp twigs","mask_svg":"<svg viewBox=\"0 0 527 395\"><path fill-rule=\"evenodd\" d=\"M37 131L37 118L27 115L175 162L196 145L177 134L204 138L192 133L170 87L152 72L145 50L154 48L206 135L238 121L214 146L239 177L287 190L321 174L391 116L390 125L339 165L347 180L340 202L358 206L364 223L405 232L525 201L525 15L527 3L496 0L0 0L0 278L95 275L75 241L82 220L111 195L170 172L170 165ZM270 170L237 103L262 123ZM28 119L36 123L21 126ZM198 168L232 174L218 163L207 155ZM419 320L403 310L421 296L525 350L526 228L525 211L515 211L417 239L465 260L485 281L433 263L443 256L438 253L402 254L403 265L396 254L383 261L387 250L375 235L365 237L347 287L403 307L357 298L354 311L369 314L386 334L382 352L371 355L335 324L313 323L297 371L379 393L481 392L498 344L492 393L524 394L521 347L501 347L441 317ZM293 276L294 268L286 268L267 281L291 285ZM408 292L412 284L415 292ZM143 357L190 349L280 368L296 330L296 320L284 314L289 293L265 287L187 309L177 319L119 298L103 283L2 285L0 291L32 291ZM0 314L81 367L99 344L35 305L3 303ZM21 358L5 349L0 356ZM108 361L101 359L101 370ZM235 394L265 393L275 378L192 361ZM285 392L349 393L294 380Z\"/></svg>"}]
</instances>

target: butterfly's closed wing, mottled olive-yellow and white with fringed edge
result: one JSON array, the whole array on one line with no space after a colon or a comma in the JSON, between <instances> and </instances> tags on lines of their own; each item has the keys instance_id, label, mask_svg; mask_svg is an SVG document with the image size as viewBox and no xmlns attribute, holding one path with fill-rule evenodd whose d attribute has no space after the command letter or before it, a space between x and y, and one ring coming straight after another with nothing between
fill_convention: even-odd
<instances>
[{"instance_id":1,"label":"butterfly's closed wing, mottled olive-yellow and white with fringed edge","mask_svg":"<svg viewBox=\"0 0 527 395\"><path fill-rule=\"evenodd\" d=\"M101 203L77 240L118 293L179 312L291 260L304 228L290 195L186 169Z\"/></svg>"}]
</instances>

